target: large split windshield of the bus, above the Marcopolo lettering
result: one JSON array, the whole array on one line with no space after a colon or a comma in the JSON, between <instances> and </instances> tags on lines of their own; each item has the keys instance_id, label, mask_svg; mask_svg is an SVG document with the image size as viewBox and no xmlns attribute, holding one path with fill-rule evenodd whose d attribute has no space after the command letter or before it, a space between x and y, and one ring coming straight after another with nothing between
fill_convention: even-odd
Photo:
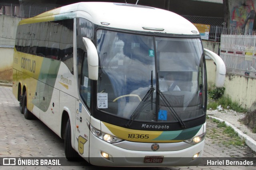
<instances>
[{"instance_id":1,"label":"large split windshield of the bus, above the Marcopolo lettering","mask_svg":"<svg viewBox=\"0 0 256 170\"><path fill-rule=\"evenodd\" d=\"M200 38L163 38L98 30L98 109L140 122L177 122L205 114ZM100 97L106 97L99 103ZM132 118L133 117L133 118Z\"/></svg>"}]
</instances>

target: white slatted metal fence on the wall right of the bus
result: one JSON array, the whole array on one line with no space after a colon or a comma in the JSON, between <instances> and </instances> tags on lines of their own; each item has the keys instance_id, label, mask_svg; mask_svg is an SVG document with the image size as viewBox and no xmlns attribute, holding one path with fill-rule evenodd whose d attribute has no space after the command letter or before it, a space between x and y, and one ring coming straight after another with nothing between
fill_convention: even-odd
<instances>
[{"instance_id":1,"label":"white slatted metal fence on the wall right of the bus","mask_svg":"<svg viewBox=\"0 0 256 170\"><path fill-rule=\"evenodd\" d=\"M222 34L220 57L227 72L256 77L256 36Z\"/></svg>"}]
</instances>

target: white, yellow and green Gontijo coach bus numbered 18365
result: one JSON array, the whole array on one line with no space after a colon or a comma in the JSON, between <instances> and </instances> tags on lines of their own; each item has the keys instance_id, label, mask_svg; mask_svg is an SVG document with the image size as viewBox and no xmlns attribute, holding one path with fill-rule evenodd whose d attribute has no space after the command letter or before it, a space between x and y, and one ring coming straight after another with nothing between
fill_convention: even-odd
<instances>
[{"instance_id":1,"label":"white, yellow and green Gontijo coach bus numbered 18365","mask_svg":"<svg viewBox=\"0 0 256 170\"><path fill-rule=\"evenodd\" d=\"M206 134L204 51L222 86L223 61L181 16L134 4L71 4L19 23L13 94L26 119L38 117L64 139L69 160L195 165Z\"/></svg>"}]
</instances>

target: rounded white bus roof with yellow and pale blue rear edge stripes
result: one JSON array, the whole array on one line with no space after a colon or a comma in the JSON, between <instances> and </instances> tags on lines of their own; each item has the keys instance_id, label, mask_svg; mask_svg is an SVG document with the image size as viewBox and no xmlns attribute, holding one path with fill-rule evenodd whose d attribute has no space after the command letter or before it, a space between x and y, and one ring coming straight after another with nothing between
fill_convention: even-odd
<instances>
[{"instance_id":1,"label":"rounded white bus roof with yellow and pale blue rear edge stripes","mask_svg":"<svg viewBox=\"0 0 256 170\"><path fill-rule=\"evenodd\" d=\"M167 34L199 34L192 23L173 12L148 6L112 2L70 4L22 20L20 24L76 17L85 18L94 24L109 28Z\"/></svg>"}]
</instances>

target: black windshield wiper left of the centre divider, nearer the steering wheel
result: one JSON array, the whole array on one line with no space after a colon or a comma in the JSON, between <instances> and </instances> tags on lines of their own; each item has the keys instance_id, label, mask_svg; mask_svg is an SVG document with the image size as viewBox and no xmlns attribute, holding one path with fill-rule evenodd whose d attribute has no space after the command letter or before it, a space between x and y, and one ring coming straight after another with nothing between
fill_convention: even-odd
<instances>
[{"instance_id":1,"label":"black windshield wiper left of the centre divider, nearer the steering wheel","mask_svg":"<svg viewBox=\"0 0 256 170\"><path fill-rule=\"evenodd\" d=\"M132 113L129 121L126 123L126 127L130 127L132 125L132 122L134 119L139 115L141 108L145 105L146 101L151 97L151 110L153 108L153 92L155 91L153 87L153 71L151 71L151 87L146 93L146 95L143 97L142 101L140 104L136 107L135 111Z\"/></svg>"}]
</instances>

